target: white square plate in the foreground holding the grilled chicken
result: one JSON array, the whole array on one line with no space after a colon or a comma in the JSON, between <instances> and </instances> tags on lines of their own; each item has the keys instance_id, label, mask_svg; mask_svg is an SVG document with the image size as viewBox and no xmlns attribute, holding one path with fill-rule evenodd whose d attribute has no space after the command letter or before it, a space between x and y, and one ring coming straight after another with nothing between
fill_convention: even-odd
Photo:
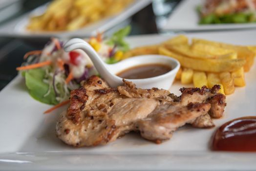
<instances>
[{"instance_id":1,"label":"white square plate in the foreground holding the grilled chicken","mask_svg":"<svg viewBox=\"0 0 256 171\"><path fill-rule=\"evenodd\" d=\"M256 31L188 34L234 44L256 44ZM160 43L171 36L129 37L134 47ZM0 170L255 170L256 153L213 152L209 149L213 132L223 123L242 116L256 115L256 64L245 74L246 86L236 87L227 96L225 116L215 119L215 128L183 127L170 141L160 145L136 133L106 146L72 148L55 136L58 115L65 107L43 114L50 106L29 96L23 78L17 76L0 92ZM171 92L180 94L184 85L175 82ZM188 85L192 86L192 85Z\"/></svg>"}]
</instances>

